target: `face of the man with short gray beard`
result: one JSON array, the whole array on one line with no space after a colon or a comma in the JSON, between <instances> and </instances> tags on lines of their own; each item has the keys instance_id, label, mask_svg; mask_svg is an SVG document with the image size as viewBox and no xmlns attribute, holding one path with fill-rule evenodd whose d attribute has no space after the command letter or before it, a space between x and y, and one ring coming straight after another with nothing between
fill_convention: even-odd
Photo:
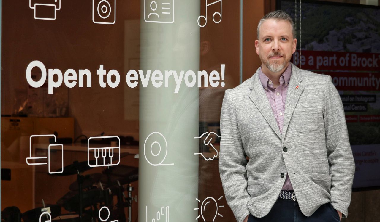
<instances>
[{"instance_id":1,"label":"face of the man with short gray beard","mask_svg":"<svg viewBox=\"0 0 380 222\"><path fill-rule=\"evenodd\" d=\"M291 25L285 20L268 19L261 24L259 39L255 41L256 53L271 72L287 67L296 51Z\"/></svg>"}]
</instances>

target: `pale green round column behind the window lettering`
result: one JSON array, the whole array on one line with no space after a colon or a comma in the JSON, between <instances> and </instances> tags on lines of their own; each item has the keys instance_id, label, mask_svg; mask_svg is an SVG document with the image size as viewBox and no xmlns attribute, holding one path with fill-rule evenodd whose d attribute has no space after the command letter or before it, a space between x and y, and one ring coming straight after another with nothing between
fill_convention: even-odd
<instances>
[{"instance_id":1,"label":"pale green round column behind the window lettering","mask_svg":"<svg viewBox=\"0 0 380 222\"><path fill-rule=\"evenodd\" d=\"M164 4L163 4L164 3ZM140 70L199 69L199 1L142 0ZM195 221L198 216L199 88L171 76L139 99L139 222Z\"/></svg>"}]
</instances>

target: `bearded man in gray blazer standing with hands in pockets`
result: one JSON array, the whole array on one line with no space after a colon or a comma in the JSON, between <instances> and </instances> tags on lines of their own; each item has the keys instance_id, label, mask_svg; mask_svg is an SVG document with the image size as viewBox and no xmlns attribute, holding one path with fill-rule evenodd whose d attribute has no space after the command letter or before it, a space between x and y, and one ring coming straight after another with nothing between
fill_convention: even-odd
<instances>
[{"instance_id":1,"label":"bearded man in gray blazer standing with hands in pockets","mask_svg":"<svg viewBox=\"0 0 380 222\"><path fill-rule=\"evenodd\" d=\"M287 13L264 16L257 38L261 67L223 98L219 171L227 203L238 222L340 221L355 163L337 89L330 76L290 63L297 39Z\"/></svg>"}]
</instances>

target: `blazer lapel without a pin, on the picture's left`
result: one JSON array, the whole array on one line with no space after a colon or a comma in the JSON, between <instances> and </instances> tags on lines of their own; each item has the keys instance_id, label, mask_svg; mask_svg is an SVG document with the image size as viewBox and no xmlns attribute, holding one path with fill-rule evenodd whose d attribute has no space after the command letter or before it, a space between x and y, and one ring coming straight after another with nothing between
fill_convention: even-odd
<instances>
[{"instance_id":1,"label":"blazer lapel without a pin, on the picture's left","mask_svg":"<svg viewBox=\"0 0 380 222\"><path fill-rule=\"evenodd\" d=\"M259 79L259 69L257 69L256 73L251 78L250 89L252 89L252 91L249 94L249 98L253 103L255 103L261 115L263 115L265 120L271 126L272 130L281 139L280 128L277 125L268 97L266 96L263 85Z\"/></svg>"}]
</instances>

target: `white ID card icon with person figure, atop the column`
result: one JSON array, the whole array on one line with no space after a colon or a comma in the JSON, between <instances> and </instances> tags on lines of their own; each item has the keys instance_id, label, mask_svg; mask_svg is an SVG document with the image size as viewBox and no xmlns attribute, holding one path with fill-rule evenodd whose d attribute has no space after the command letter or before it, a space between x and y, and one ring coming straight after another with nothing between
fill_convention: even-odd
<instances>
[{"instance_id":1,"label":"white ID card icon with person figure, atop the column","mask_svg":"<svg viewBox=\"0 0 380 222\"><path fill-rule=\"evenodd\" d=\"M174 0L144 0L144 20L154 23L173 23Z\"/></svg>"}]
</instances>

